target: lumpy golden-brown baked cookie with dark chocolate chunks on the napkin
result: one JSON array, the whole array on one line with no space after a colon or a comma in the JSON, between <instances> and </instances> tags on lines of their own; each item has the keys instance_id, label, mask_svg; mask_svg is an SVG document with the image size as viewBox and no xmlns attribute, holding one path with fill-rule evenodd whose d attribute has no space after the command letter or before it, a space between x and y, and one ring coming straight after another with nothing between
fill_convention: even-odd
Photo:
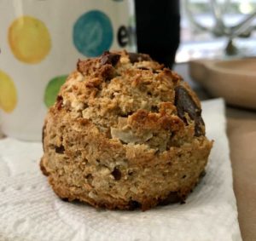
<instances>
[{"instance_id":1,"label":"lumpy golden-brown baked cookie with dark chocolate chunks on the napkin","mask_svg":"<svg viewBox=\"0 0 256 241\"><path fill-rule=\"evenodd\" d=\"M49 108L43 143L54 192L107 209L183 202L212 148L182 77L125 51L79 60Z\"/></svg>"}]
</instances>

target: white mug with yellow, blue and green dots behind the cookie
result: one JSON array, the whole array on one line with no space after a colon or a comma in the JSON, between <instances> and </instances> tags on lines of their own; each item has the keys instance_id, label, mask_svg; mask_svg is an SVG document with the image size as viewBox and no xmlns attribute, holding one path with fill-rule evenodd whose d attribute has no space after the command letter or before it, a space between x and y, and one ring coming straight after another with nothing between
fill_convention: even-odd
<instances>
[{"instance_id":1,"label":"white mug with yellow, blue and green dots behind the cookie","mask_svg":"<svg viewBox=\"0 0 256 241\"><path fill-rule=\"evenodd\" d=\"M78 59L136 50L132 0L0 0L0 125L39 141L44 116Z\"/></svg>"}]
</instances>

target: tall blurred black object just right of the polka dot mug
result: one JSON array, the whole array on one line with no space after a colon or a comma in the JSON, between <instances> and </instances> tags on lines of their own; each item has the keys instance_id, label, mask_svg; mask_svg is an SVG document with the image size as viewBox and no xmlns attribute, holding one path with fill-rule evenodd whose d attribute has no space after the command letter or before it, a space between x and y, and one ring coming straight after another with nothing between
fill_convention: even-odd
<instances>
[{"instance_id":1,"label":"tall blurred black object just right of the polka dot mug","mask_svg":"<svg viewBox=\"0 0 256 241\"><path fill-rule=\"evenodd\" d=\"M137 50L172 67L180 41L178 0L135 0Z\"/></svg>"}]
</instances>

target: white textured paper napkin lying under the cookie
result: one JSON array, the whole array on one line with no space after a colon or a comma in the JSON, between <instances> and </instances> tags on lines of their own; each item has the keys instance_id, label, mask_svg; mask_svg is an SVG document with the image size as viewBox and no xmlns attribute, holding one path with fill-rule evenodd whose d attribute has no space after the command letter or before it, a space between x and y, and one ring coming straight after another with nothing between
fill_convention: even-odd
<instances>
[{"instance_id":1,"label":"white textured paper napkin lying under the cookie","mask_svg":"<svg viewBox=\"0 0 256 241\"><path fill-rule=\"evenodd\" d=\"M224 101L203 102L213 139L207 175L186 204L145 212L96 210L61 201L38 168L40 143L0 141L0 240L241 240Z\"/></svg>"}]
</instances>

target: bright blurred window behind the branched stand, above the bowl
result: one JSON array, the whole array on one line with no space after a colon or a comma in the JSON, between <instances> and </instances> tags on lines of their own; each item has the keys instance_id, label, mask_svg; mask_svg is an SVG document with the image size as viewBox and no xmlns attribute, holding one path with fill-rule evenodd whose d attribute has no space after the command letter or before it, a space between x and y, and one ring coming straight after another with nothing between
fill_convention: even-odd
<instances>
[{"instance_id":1,"label":"bright blurred window behind the branched stand, above the bowl","mask_svg":"<svg viewBox=\"0 0 256 241\"><path fill-rule=\"evenodd\" d=\"M224 25L236 26L248 16L256 15L256 0L183 0L181 1L181 43L177 50L176 62L184 62L196 58L216 58L224 57L225 48L229 42L229 37L218 36L218 26L212 14L211 3L218 3L221 9ZM202 31L196 27L193 20L201 26L211 29ZM235 37L234 45L238 49L238 55L256 55L256 18L247 25L247 32L243 32L243 37ZM215 34L212 33L215 31ZM240 51L239 51L240 50Z\"/></svg>"}]
</instances>

